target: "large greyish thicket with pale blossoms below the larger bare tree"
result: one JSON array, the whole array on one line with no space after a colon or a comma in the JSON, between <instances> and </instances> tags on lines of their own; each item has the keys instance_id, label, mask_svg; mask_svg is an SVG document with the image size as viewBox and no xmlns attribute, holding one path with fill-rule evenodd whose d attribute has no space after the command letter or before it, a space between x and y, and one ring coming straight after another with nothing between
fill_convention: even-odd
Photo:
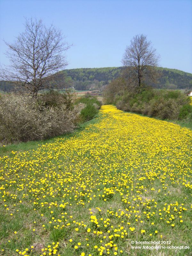
<instances>
[{"instance_id":1,"label":"large greyish thicket with pale blossoms below the larger bare tree","mask_svg":"<svg viewBox=\"0 0 192 256\"><path fill-rule=\"evenodd\" d=\"M76 104L69 108L66 98L62 95L57 98L55 94L36 99L1 94L0 142L43 140L73 131L83 106Z\"/></svg>"}]
</instances>

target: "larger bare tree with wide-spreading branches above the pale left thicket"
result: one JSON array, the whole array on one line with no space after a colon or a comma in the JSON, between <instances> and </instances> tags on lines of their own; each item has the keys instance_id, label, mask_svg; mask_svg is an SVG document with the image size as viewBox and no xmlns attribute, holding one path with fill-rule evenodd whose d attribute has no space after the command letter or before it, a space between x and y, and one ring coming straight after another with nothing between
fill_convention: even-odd
<instances>
[{"instance_id":1,"label":"larger bare tree with wide-spreading branches above the pale left thicket","mask_svg":"<svg viewBox=\"0 0 192 256\"><path fill-rule=\"evenodd\" d=\"M1 68L0 77L36 97L39 90L50 87L54 73L68 64L64 53L70 45L63 39L53 25L47 28L42 20L26 19L25 32L14 43L5 42L10 65Z\"/></svg>"}]
</instances>

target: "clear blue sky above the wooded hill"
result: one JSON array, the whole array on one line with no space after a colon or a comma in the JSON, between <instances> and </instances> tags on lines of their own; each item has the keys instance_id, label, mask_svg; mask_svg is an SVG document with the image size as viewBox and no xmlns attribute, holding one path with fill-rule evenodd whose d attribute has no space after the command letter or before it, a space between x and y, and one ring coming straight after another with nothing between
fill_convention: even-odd
<instances>
[{"instance_id":1,"label":"clear blue sky above the wooded hill","mask_svg":"<svg viewBox=\"0 0 192 256\"><path fill-rule=\"evenodd\" d=\"M126 45L148 36L161 55L159 66L192 73L191 0L0 0L0 63L8 64L3 39L24 31L24 17L60 28L73 46L67 68L122 66Z\"/></svg>"}]
</instances>

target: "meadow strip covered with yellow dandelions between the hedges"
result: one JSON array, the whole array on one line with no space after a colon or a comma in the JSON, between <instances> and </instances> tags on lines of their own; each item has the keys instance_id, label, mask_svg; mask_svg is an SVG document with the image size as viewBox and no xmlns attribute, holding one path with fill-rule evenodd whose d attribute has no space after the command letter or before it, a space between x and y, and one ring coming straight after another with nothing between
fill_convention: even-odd
<instances>
[{"instance_id":1,"label":"meadow strip covered with yellow dandelions between the hedges","mask_svg":"<svg viewBox=\"0 0 192 256\"><path fill-rule=\"evenodd\" d=\"M191 152L191 130L106 105L0 157L0 255L190 255Z\"/></svg>"}]
</instances>

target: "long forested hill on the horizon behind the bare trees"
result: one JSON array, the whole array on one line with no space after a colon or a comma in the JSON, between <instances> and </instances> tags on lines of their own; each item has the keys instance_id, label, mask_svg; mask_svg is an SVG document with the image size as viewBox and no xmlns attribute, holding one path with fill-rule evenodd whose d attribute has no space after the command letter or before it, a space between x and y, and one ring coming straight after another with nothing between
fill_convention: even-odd
<instances>
[{"instance_id":1,"label":"long forested hill on the horizon behind the bare trees","mask_svg":"<svg viewBox=\"0 0 192 256\"><path fill-rule=\"evenodd\" d=\"M159 89L192 89L192 74L178 69L157 68L161 72L158 83L151 84ZM116 79L122 71L122 67L113 68L75 68L66 69L55 74L52 84L65 84L76 90L103 89L106 84ZM0 90L11 91L12 84L0 81Z\"/></svg>"}]
</instances>

